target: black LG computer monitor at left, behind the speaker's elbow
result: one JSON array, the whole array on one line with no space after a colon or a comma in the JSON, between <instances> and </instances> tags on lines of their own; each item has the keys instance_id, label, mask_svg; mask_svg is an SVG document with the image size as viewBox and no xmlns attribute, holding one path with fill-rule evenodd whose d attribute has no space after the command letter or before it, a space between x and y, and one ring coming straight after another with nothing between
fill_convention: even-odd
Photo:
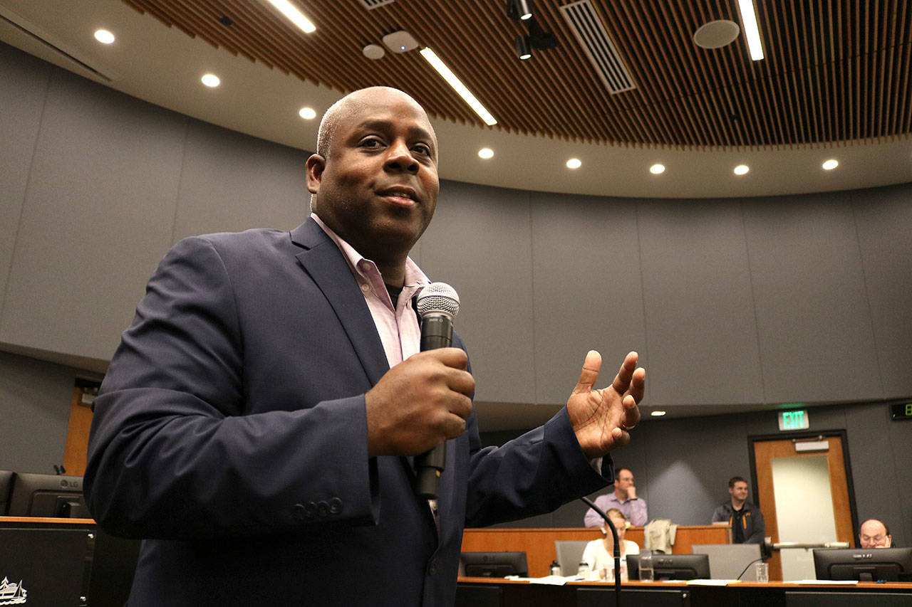
<instances>
[{"instance_id":1,"label":"black LG computer monitor at left, behind the speaker's elbow","mask_svg":"<svg viewBox=\"0 0 912 607\"><path fill-rule=\"evenodd\" d=\"M17 472L9 496L11 517L89 519L82 477Z\"/></svg>"}]
</instances>

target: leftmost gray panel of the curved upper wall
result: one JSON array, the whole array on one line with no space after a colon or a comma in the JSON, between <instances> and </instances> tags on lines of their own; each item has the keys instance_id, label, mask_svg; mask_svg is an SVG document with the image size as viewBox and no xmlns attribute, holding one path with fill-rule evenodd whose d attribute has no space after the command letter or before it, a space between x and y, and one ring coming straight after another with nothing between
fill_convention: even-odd
<instances>
[{"instance_id":1,"label":"leftmost gray panel of the curved upper wall","mask_svg":"<svg viewBox=\"0 0 912 607\"><path fill-rule=\"evenodd\" d=\"M0 43L0 317L49 75L44 61Z\"/></svg>"}]
</instances>

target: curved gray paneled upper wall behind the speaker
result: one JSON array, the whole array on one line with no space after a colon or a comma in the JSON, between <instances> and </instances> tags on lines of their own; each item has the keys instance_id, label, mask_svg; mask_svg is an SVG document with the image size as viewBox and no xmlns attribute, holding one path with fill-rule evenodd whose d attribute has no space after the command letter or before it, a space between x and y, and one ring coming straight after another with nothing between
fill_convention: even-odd
<instances>
[{"instance_id":1,"label":"curved gray paneled upper wall behind the speaker","mask_svg":"<svg viewBox=\"0 0 912 607\"><path fill-rule=\"evenodd\" d=\"M181 237L306 217L306 152L0 45L0 345L103 370ZM443 142L444 146L446 142ZM461 294L480 401L560 404L637 349L648 406L912 395L912 184L633 200L441 187L414 252Z\"/></svg>"}]
</instances>

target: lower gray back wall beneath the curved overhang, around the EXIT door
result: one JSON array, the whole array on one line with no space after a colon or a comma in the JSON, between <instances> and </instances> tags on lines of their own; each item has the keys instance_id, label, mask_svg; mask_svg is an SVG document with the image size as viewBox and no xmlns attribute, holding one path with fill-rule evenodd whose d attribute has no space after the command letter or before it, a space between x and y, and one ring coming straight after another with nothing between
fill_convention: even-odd
<instances>
[{"instance_id":1,"label":"lower gray back wall beneath the curved overhang, around the EXIT door","mask_svg":"<svg viewBox=\"0 0 912 607\"><path fill-rule=\"evenodd\" d=\"M808 417L811 430L845 429L859 522L882 517L894 540L907 546L912 541L912 422L891 422L886 411L880 403L814 406ZM617 466L633 471L637 495L647 500L649 519L706 525L712 510L729 499L729 478L751 478L748 437L789 437L778 431L776 419L775 411L648 419L634 430L630 444L612 457ZM500 445L519 434L484 433L482 444ZM749 499L755 499L752 489ZM581 527L585 510L577 501L566 504L550 515L552 524ZM508 526L533 527L542 520L534 517Z\"/></svg>"}]
</instances>

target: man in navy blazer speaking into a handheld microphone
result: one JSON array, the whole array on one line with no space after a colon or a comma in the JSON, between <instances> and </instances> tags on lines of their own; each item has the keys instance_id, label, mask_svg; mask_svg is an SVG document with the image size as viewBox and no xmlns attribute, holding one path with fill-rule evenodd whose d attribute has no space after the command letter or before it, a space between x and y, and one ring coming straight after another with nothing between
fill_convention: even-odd
<instances>
[{"instance_id":1,"label":"man in navy blazer speaking into a handheld microphone","mask_svg":"<svg viewBox=\"0 0 912 607\"><path fill-rule=\"evenodd\" d=\"M637 424L635 353L595 389L590 352L567 406L501 448L481 448L458 336L390 364L409 333L378 328L363 279L417 326L408 252L439 189L412 98L373 87L328 109L307 185L294 231L175 245L111 362L85 488L102 527L144 539L130 605L451 604L466 525L604 487ZM444 440L429 504L411 458Z\"/></svg>"}]
</instances>

